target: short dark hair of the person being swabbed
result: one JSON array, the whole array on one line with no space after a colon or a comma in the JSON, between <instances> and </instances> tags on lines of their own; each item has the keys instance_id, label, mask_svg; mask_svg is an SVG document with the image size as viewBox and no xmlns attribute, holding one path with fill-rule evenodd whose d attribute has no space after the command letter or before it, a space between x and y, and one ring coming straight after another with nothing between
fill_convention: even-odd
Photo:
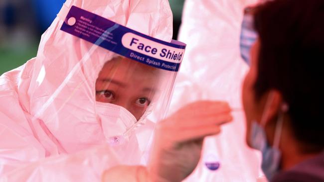
<instances>
[{"instance_id":1,"label":"short dark hair of the person being swabbed","mask_svg":"<svg viewBox=\"0 0 324 182\"><path fill-rule=\"evenodd\" d=\"M272 0L256 8L256 98L280 91L305 152L324 148L324 0Z\"/></svg>"}]
</instances>

